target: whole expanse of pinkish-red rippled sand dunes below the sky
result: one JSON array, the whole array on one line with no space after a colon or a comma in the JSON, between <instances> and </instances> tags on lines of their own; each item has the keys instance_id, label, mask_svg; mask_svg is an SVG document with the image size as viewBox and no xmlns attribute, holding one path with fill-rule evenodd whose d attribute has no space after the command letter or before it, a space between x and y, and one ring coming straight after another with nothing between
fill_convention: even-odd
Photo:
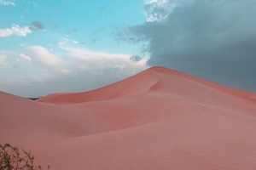
<instances>
[{"instance_id":1,"label":"whole expanse of pinkish-red rippled sand dunes below the sky","mask_svg":"<svg viewBox=\"0 0 256 170\"><path fill-rule=\"evenodd\" d=\"M51 169L256 169L256 94L163 67L32 101L0 92L0 144Z\"/></svg>"}]
</instances>

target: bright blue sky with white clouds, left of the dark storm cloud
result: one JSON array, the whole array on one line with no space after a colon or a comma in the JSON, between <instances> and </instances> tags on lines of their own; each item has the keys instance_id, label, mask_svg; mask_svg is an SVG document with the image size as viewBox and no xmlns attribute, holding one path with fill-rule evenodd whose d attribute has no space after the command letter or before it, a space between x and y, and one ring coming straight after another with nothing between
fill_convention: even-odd
<instances>
[{"instance_id":1,"label":"bright blue sky with white clouds, left of the dark storm cloud","mask_svg":"<svg viewBox=\"0 0 256 170\"><path fill-rule=\"evenodd\" d=\"M145 62L136 64L129 59L139 48L117 42L115 36L119 30L146 20L144 3L143 0L0 1L0 90L21 96L83 91L143 71ZM98 62L105 64L99 66ZM127 67L126 71L122 65ZM54 80L87 74L102 79L108 66L119 73L114 73L113 79L103 78L109 79L106 82L91 84L94 80L88 77L84 78L83 88L61 89L61 84L54 90L36 88ZM69 83L76 83L76 79Z\"/></svg>"}]
</instances>

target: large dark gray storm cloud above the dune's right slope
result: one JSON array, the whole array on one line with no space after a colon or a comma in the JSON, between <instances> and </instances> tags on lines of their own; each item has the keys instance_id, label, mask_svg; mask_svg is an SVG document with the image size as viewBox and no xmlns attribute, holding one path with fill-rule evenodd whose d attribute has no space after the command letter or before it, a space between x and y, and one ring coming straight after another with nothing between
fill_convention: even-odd
<instances>
[{"instance_id":1,"label":"large dark gray storm cloud above the dune's right slope","mask_svg":"<svg viewBox=\"0 0 256 170\"><path fill-rule=\"evenodd\" d=\"M157 17L130 30L134 39L147 40L148 65L255 93L255 8L254 0L158 0L145 6Z\"/></svg>"}]
</instances>

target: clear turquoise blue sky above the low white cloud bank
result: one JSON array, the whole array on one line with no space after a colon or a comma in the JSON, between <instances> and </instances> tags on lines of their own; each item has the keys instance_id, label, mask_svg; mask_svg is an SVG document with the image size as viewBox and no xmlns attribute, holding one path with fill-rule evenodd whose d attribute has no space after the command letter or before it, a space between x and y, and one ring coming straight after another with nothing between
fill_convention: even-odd
<instances>
[{"instance_id":1,"label":"clear turquoise blue sky above the low white cloud bank","mask_svg":"<svg viewBox=\"0 0 256 170\"><path fill-rule=\"evenodd\" d=\"M118 48L111 33L120 26L143 23L143 1L3 1L15 5L1 5L1 28L12 25L21 29L32 26L32 21L44 27L35 28L26 37L10 36L1 41L1 47L13 50L13 45L57 46L61 38L80 42L85 48L116 52ZM14 44L15 42L15 44ZM97 43L94 44L94 42ZM12 46L10 46L12 44ZM104 44L104 45L103 45ZM116 47L113 47L116 46ZM47 47L49 48L49 47ZM57 48L55 48L57 49ZM125 49L131 52L131 48Z\"/></svg>"}]
</instances>

